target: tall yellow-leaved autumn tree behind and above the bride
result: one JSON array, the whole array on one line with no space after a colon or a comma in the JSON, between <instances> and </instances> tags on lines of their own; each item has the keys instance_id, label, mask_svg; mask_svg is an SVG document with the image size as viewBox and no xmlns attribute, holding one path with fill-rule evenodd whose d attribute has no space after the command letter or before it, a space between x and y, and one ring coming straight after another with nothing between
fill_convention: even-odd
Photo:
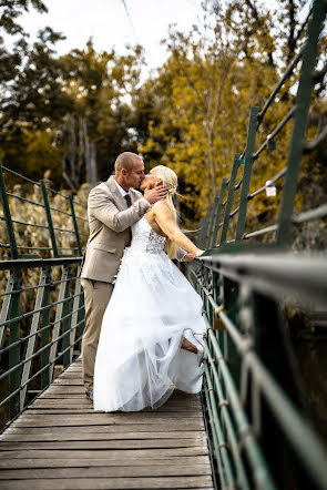
<instances>
[{"instance_id":1,"label":"tall yellow-leaved autumn tree behind and above the bride","mask_svg":"<svg viewBox=\"0 0 327 490\"><path fill-rule=\"evenodd\" d=\"M242 53L244 24L232 14L236 3L246 11L241 2L223 10L207 1L202 31L171 31L170 58L142 95L150 121L141 151L145 159L154 156L176 170L190 194L190 216L200 216L213 202L222 176L229 175L234 153L244 149L249 106L262 103L278 76L269 61L270 33L263 42L262 31L248 29L252 40L247 39L247 55ZM266 16L269 32L272 20Z\"/></svg>"}]
</instances>

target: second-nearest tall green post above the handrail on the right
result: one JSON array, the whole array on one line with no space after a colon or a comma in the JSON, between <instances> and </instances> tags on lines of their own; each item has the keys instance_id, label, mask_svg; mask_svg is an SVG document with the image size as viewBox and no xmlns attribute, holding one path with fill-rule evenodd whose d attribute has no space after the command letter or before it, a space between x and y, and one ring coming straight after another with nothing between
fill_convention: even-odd
<instances>
[{"instance_id":1,"label":"second-nearest tall green post above the handrail on the right","mask_svg":"<svg viewBox=\"0 0 327 490\"><path fill-rule=\"evenodd\" d=\"M244 155L244 172L243 172L243 181L242 181L242 190L239 197L239 212L238 220L236 226L236 238L235 241L239 242L244 235L245 229L245 221L246 221L246 210L247 210L247 196L249 191L249 182L252 174L252 164L253 164L253 153L255 149L255 136L257 129L257 115L259 112L259 108L253 106L249 112L249 121L248 121L248 130L247 130L247 141L245 147Z\"/></svg>"}]
</instances>

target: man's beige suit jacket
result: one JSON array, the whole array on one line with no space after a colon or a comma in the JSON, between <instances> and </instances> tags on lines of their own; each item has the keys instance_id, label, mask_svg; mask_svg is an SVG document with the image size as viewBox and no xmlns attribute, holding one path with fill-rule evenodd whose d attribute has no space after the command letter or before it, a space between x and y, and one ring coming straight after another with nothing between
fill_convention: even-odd
<instances>
[{"instance_id":1,"label":"man's beige suit jacket","mask_svg":"<svg viewBox=\"0 0 327 490\"><path fill-rule=\"evenodd\" d=\"M151 207L139 191L131 188L130 195L132 205L126 207L113 176L90 192L90 236L82 263L82 278L104 283L114 280L124 248L131 242L131 226Z\"/></svg>"}]
</instances>

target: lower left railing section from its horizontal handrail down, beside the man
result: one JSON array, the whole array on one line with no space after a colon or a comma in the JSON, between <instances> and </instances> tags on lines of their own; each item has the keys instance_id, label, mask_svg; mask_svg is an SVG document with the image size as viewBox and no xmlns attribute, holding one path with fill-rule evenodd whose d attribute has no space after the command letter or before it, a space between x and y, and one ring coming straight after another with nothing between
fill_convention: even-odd
<instances>
[{"instance_id":1,"label":"lower left railing section from its horizontal handrail down, beside the man","mask_svg":"<svg viewBox=\"0 0 327 490\"><path fill-rule=\"evenodd\" d=\"M10 273L9 290L6 292L0 318L0 357L2 372L0 381L9 378L9 394L0 400L0 407L9 404L10 419L23 410L30 401L27 388L38 381L40 389L53 380L54 364L63 370L76 356L81 348L81 335L84 325L83 293L79 270L71 274L71 267L80 267L82 257L59 257L53 259L16 259L0 262L0 270ZM52 273L62 269L61 280L52 280ZM31 287L22 285L22 270L40 269L40 284L34 286L37 297L32 309L21 313L21 296ZM74 293L71 292L71 286ZM55 288L58 299L51 298L50 290ZM53 293L52 293L53 295ZM55 318L51 319L51 312ZM24 320L31 318L30 331L23 334ZM6 329L9 328L9 336ZM75 340L78 331L79 340ZM71 335L74 334L74 335ZM41 345L39 344L40 339ZM7 344L7 345L4 345ZM21 346L25 345L21 358ZM61 346L61 347L60 347ZM60 347L61 353L57 355ZM49 358L50 349L54 349L53 358ZM74 353L75 350L75 353ZM41 359L41 366L35 363ZM6 367L7 366L7 367Z\"/></svg>"}]
</instances>

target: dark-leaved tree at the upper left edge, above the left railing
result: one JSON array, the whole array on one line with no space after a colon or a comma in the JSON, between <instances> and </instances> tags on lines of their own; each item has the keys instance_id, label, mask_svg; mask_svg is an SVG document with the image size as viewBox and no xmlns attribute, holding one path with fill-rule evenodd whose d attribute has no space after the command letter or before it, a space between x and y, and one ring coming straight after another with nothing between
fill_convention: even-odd
<instances>
[{"instance_id":1,"label":"dark-leaved tree at the upper left edge, above the left railing","mask_svg":"<svg viewBox=\"0 0 327 490\"><path fill-rule=\"evenodd\" d=\"M40 12L47 11L40 0L1 3L0 25L14 42L9 51L0 37L0 156L6 165L19 172L25 171L28 162L30 175L37 177L40 169L47 165L47 160L38 155L43 159L48 150L52 155L55 153L49 146L49 134L53 134L58 121L72 109L73 101L62 90L62 71L53 51L53 45L64 39L63 35L44 28L30 45L29 34L17 21L31 6ZM40 151L35 151L33 144L34 161L28 157L33 140L40 145ZM50 160L55 163L52 157ZM59 163L54 165L54 173Z\"/></svg>"}]
</instances>

